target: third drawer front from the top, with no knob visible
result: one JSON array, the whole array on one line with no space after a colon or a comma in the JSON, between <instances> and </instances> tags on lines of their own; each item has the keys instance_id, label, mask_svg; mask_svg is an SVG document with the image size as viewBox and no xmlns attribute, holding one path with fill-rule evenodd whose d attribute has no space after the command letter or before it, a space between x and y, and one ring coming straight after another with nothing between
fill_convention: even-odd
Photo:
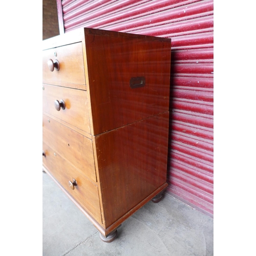
<instances>
[{"instance_id":1,"label":"third drawer front from the top, with no knob visible","mask_svg":"<svg viewBox=\"0 0 256 256\"><path fill-rule=\"evenodd\" d=\"M92 140L42 115L42 140L96 182Z\"/></svg>"}]
</instances>

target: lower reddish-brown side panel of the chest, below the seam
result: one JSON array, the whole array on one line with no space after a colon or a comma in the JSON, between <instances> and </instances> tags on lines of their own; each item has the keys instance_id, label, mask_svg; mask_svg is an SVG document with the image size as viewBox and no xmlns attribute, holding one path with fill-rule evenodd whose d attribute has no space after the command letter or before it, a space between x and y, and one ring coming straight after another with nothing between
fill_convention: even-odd
<instances>
[{"instance_id":1,"label":"lower reddish-brown side panel of the chest, below the seam","mask_svg":"<svg viewBox=\"0 0 256 256\"><path fill-rule=\"evenodd\" d=\"M165 112L95 137L106 227L166 182L168 120Z\"/></svg>"}]
</instances>

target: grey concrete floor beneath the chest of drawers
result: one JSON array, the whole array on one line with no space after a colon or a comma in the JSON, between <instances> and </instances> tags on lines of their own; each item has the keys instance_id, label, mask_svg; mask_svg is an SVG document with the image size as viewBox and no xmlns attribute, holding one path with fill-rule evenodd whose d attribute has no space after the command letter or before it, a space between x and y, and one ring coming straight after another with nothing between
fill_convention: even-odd
<instances>
[{"instance_id":1,"label":"grey concrete floor beneath the chest of drawers","mask_svg":"<svg viewBox=\"0 0 256 256\"><path fill-rule=\"evenodd\" d=\"M120 228L112 243L104 243L82 212L42 173L42 255L214 255L214 221L165 195L148 202Z\"/></svg>"}]
</instances>

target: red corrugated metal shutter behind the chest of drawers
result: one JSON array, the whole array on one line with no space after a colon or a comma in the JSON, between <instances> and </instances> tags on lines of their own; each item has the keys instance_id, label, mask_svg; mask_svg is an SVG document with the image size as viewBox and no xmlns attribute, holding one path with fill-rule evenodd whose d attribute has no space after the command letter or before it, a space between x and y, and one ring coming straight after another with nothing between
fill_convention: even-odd
<instances>
[{"instance_id":1,"label":"red corrugated metal shutter behind the chest of drawers","mask_svg":"<svg viewBox=\"0 0 256 256\"><path fill-rule=\"evenodd\" d=\"M58 0L59 1L59 0ZM172 38L168 192L213 215L213 0L63 0L78 27Z\"/></svg>"}]
</instances>

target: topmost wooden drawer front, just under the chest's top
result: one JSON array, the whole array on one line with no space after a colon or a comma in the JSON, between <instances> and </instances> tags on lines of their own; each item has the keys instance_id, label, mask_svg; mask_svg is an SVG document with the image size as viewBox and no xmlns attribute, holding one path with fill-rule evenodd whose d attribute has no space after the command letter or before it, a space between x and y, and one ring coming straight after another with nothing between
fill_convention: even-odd
<instances>
[{"instance_id":1,"label":"topmost wooden drawer front, just under the chest's top","mask_svg":"<svg viewBox=\"0 0 256 256\"><path fill-rule=\"evenodd\" d=\"M56 56L55 56L56 55ZM48 61L57 60L59 70L50 71ZM82 43L42 51L42 81L64 87L86 90Z\"/></svg>"}]
</instances>

